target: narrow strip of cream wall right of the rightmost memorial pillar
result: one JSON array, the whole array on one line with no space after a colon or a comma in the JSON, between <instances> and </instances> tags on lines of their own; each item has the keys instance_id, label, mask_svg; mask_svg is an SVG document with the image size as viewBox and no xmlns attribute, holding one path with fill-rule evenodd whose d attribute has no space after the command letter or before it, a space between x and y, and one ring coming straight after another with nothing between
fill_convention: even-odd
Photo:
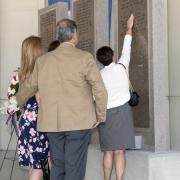
<instances>
[{"instance_id":1,"label":"narrow strip of cream wall right of the rightmost memorial pillar","mask_svg":"<svg viewBox=\"0 0 180 180\"><path fill-rule=\"evenodd\" d=\"M180 150L180 1L168 0L171 148Z\"/></svg>"}]
</instances>

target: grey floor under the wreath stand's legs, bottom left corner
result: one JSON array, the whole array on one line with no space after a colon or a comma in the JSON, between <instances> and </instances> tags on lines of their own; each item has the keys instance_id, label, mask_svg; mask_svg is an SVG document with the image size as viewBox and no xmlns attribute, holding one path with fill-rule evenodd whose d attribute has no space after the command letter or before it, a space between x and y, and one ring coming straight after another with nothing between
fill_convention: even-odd
<instances>
[{"instance_id":1,"label":"grey floor under the wreath stand's legs, bottom left corner","mask_svg":"<svg viewBox=\"0 0 180 180\"><path fill-rule=\"evenodd\" d=\"M0 151L0 167L4 157L4 151ZM3 163L3 167L0 171L0 180L10 180L11 170L13 166L14 151L9 151L7 159ZM19 167L17 158L14 164L11 180L28 180L28 171Z\"/></svg>"}]
</instances>

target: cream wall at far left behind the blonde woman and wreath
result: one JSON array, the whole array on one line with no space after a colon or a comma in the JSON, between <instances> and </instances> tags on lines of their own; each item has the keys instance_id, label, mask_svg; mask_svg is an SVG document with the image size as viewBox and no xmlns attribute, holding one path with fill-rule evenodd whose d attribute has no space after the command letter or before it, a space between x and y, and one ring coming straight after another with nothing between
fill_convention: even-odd
<instances>
[{"instance_id":1,"label":"cream wall at far left behind the blonde woman and wreath","mask_svg":"<svg viewBox=\"0 0 180 180\"><path fill-rule=\"evenodd\" d=\"M20 65L21 43L38 34L38 9L44 0L0 1L0 104L6 99L7 87ZM9 132L6 116L0 115L0 149L7 146Z\"/></svg>"}]
</instances>

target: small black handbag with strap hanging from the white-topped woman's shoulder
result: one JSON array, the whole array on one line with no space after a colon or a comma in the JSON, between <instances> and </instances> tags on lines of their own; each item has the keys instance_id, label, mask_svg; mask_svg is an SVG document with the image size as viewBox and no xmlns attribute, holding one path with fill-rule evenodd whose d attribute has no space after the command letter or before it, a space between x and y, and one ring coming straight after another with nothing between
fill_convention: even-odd
<instances>
[{"instance_id":1,"label":"small black handbag with strap hanging from the white-topped woman's shoulder","mask_svg":"<svg viewBox=\"0 0 180 180\"><path fill-rule=\"evenodd\" d=\"M129 75L128 75L127 69L124 66L124 64L122 64L122 63L118 63L118 64L120 64L120 65L122 65L124 67L124 69L126 71L126 75L127 75L128 79L129 79ZM139 98L140 97L139 97L138 93L136 91L134 91L130 79L129 79L129 92L130 92L130 100L128 102L129 105L130 106L137 106L139 104Z\"/></svg>"}]
</instances>

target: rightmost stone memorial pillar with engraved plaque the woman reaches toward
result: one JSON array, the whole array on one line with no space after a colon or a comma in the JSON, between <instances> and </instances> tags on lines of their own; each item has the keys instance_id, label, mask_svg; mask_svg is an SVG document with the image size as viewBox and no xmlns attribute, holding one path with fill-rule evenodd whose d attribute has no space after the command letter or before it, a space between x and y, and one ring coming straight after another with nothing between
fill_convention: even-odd
<instances>
[{"instance_id":1,"label":"rightmost stone memorial pillar with engraved plaque the woman reaches toward","mask_svg":"<svg viewBox=\"0 0 180 180\"><path fill-rule=\"evenodd\" d=\"M139 2L140 6L137 5ZM114 0L114 18L116 19L116 22L118 22L118 16L121 13L118 13L118 8L121 8L118 6L118 3L121 3L124 8L127 8L125 13L128 13L129 11L129 15L130 12L135 14L136 22L133 39L137 42L133 42L132 54L134 55L131 59L134 59L136 55L139 55L142 48L144 49L142 53L147 51L147 58L145 57L146 54L142 54L142 61L139 61L140 57L135 59L136 62L142 62L142 65L131 62L133 66L132 64L130 66L130 78L133 81L132 83L135 86L135 90L140 89L139 91L141 92L141 88L144 88L141 93L140 101L143 102L148 95L146 102L143 102L144 105L140 106L141 109L138 110L138 108L134 108L135 113L136 111L140 112L138 113L138 116L135 116L136 132L144 137L144 148L154 149L155 151L168 150L170 148L170 129L168 101L167 0L140 0L138 2L133 0ZM141 7L142 4L144 4L144 8ZM147 4L147 7L145 4ZM144 9L146 8L147 12L144 12ZM146 28L145 26L143 27L143 23L145 23L143 20L144 13L147 15L147 37L146 33L143 33L144 28ZM121 15L124 16L124 14ZM121 21L124 20L125 19L122 18ZM121 27L119 30L118 25L116 23L114 24L115 34L113 35L114 41L112 41L114 44L116 44L116 40L119 39L120 33L122 33L121 31L123 30L123 25L120 23L124 22L121 21L118 22L118 25ZM137 36L139 36L139 39L137 39ZM145 37L144 39L146 39L144 41L142 40L143 36ZM138 43L138 41L141 42ZM118 42L117 46L115 46L117 54L120 54L118 52L119 43L122 42ZM140 51L136 48L140 48ZM138 54L133 53L134 49L136 49L136 53ZM144 60L147 60L147 62L145 63ZM137 68L135 67L136 65ZM134 78L134 76L138 77ZM146 80L144 76L147 76ZM145 80L144 83L139 84L141 87L136 87L142 79ZM146 105L148 109L145 110ZM139 117L141 118L141 121L137 123ZM147 118L149 119L149 123L144 124L144 122L147 121Z\"/></svg>"}]
</instances>

